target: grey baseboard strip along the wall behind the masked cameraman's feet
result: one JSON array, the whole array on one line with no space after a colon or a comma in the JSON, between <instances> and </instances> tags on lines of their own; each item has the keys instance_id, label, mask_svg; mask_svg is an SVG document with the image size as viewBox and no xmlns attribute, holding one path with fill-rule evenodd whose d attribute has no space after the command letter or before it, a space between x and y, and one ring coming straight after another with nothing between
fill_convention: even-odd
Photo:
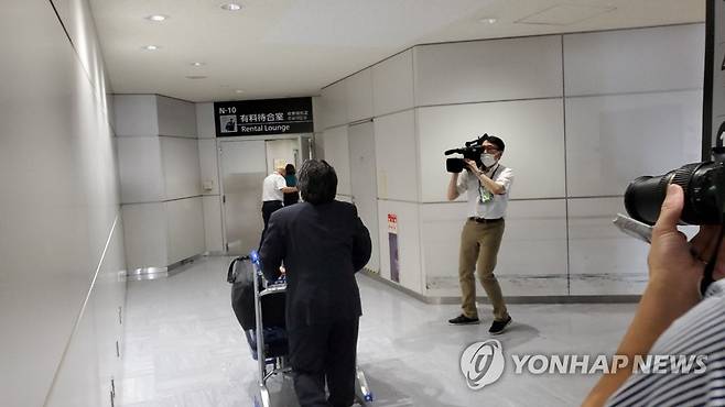
<instances>
[{"instance_id":1,"label":"grey baseboard strip along the wall behind the masked cameraman's feet","mask_svg":"<svg viewBox=\"0 0 725 407\"><path fill-rule=\"evenodd\" d=\"M368 270L361 270L360 274L374 279L376 282L382 283L388 287L397 289L401 293L404 293L421 302L433 304L433 305L450 305L450 304L461 304L461 297L457 296L425 296L420 293L415 293L410 288L403 287L402 285L391 282L387 278L381 277L377 273L372 273ZM639 302L641 296L639 295L591 295L591 296L507 296L505 297L506 302L508 304L637 304ZM488 297L476 297L476 301L480 304L490 304Z\"/></svg>"}]
</instances>

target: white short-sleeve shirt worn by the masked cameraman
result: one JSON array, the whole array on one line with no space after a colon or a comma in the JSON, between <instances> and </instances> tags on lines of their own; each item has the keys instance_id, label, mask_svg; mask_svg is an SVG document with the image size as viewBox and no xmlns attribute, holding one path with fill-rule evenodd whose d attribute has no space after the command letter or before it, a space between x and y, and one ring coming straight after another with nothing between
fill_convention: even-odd
<instances>
[{"instance_id":1,"label":"white short-sleeve shirt worn by the masked cameraman","mask_svg":"<svg viewBox=\"0 0 725 407\"><path fill-rule=\"evenodd\" d=\"M506 193L494 195L493 199L484 202L481 196L488 194L486 188L478 182L478 178L467 169L458 176L456 189L458 194L466 193L468 200L468 217L498 219L506 216L506 207L511 194L511 184L513 183L513 172L504 165L497 164L487 172L486 176L491 178L496 184L504 186Z\"/></svg>"}]
</instances>

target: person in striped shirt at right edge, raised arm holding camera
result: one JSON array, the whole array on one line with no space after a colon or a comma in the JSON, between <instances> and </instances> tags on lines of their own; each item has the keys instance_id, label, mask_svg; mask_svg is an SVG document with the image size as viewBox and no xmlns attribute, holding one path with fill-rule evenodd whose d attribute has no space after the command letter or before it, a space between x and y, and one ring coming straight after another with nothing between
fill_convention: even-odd
<instances>
[{"instance_id":1,"label":"person in striped shirt at right edge, raised arm holding camera","mask_svg":"<svg viewBox=\"0 0 725 407\"><path fill-rule=\"evenodd\" d=\"M602 376L585 407L725 405L725 280L719 280L725 276L725 249L718 249L715 282L702 299L703 258L717 249L719 227L703 226L688 244L677 227L683 206L682 188L670 185L652 230L649 282L617 349L628 365ZM666 373L651 369L632 374L635 356L648 354L703 356L705 370L678 373L668 364Z\"/></svg>"}]
</instances>

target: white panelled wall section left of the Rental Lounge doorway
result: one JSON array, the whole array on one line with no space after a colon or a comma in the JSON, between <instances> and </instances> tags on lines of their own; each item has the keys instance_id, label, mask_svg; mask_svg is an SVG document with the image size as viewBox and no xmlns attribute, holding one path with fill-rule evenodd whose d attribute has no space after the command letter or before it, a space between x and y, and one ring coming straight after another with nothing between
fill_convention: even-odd
<instances>
[{"instance_id":1,"label":"white panelled wall section left of the Rental Lounge doorway","mask_svg":"<svg viewBox=\"0 0 725 407\"><path fill-rule=\"evenodd\" d=\"M118 134L129 268L163 268L209 251L202 194L218 194L216 146L196 138L196 106L158 95L113 100L118 129L132 132ZM147 124L139 130L129 123ZM210 190L203 189L203 177Z\"/></svg>"}]
</instances>

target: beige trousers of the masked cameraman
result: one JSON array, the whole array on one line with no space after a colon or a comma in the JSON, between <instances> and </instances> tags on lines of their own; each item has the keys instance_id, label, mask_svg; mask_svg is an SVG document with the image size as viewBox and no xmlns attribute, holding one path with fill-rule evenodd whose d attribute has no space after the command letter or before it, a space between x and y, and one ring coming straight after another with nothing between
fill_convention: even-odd
<instances>
[{"instance_id":1,"label":"beige trousers of the masked cameraman","mask_svg":"<svg viewBox=\"0 0 725 407\"><path fill-rule=\"evenodd\" d=\"M463 315L477 318L476 309L476 278L474 272L478 270L480 279L488 299L494 306L494 318L497 321L506 320L509 315L504 302L504 295L498 280L494 275L496 256L501 245L504 220L495 223L478 223L468 219L461 233L461 253L458 255L458 279L461 282L461 301Z\"/></svg>"}]
</instances>

